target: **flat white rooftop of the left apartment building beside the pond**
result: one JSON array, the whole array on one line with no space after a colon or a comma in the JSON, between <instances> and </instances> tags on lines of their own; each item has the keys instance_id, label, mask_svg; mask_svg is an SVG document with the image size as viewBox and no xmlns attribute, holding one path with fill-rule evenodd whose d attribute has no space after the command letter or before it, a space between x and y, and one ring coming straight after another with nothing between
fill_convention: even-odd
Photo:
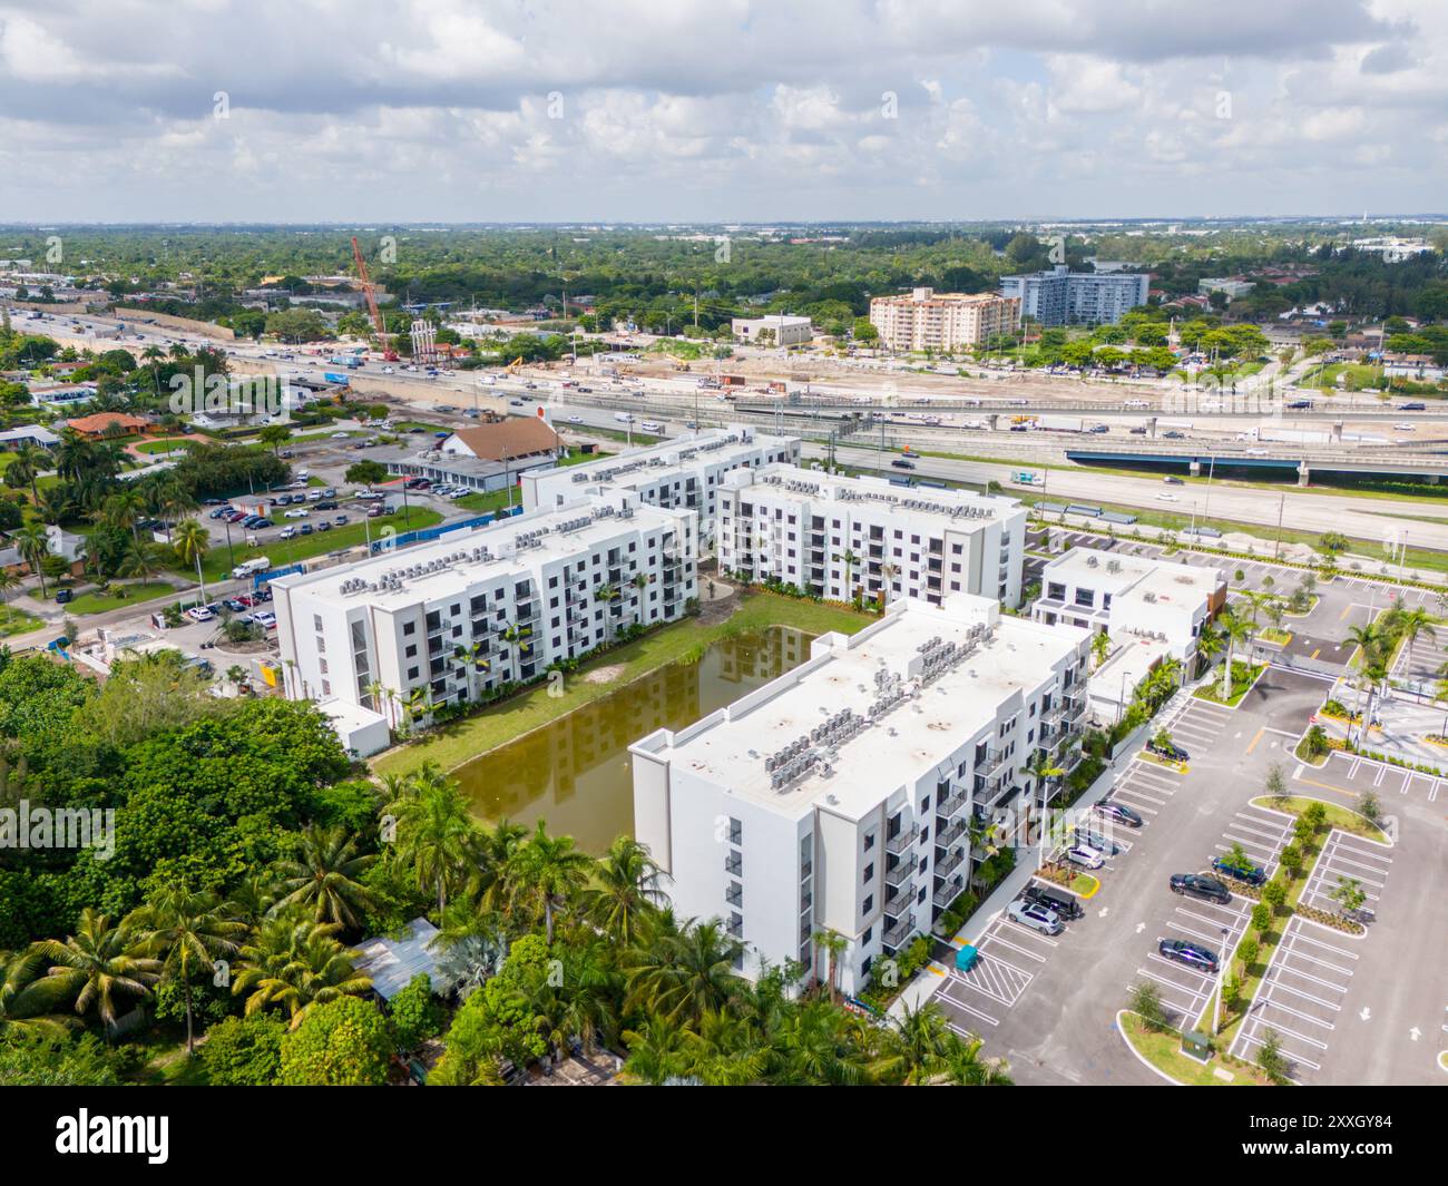
<instances>
[{"instance_id":1,"label":"flat white rooftop of the left apartment building beside the pond","mask_svg":"<svg viewBox=\"0 0 1448 1186\"><path fill-rule=\"evenodd\" d=\"M615 536L623 526L678 526L679 514L640 507L630 498L584 498L562 507L440 536L430 543L382 552L350 565L278 576L274 588L340 602L365 600L379 610L437 601L459 588L517 571L530 560L563 560Z\"/></svg>"}]
</instances>

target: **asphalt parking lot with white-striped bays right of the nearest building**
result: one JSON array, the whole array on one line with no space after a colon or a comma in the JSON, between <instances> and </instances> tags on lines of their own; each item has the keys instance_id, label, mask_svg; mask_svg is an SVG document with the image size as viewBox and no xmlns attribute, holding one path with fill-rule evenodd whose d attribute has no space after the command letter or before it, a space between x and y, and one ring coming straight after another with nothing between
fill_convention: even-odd
<instances>
[{"instance_id":1,"label":"asphalt parking lot with white-striped bays right of the nearest building","mask_svg":"<svg viewBox=\"0 0 1448 1186\"><path fill-rule=\"evenodd\" d=\"M1095 872L1100 888L1058 935L1003 915L967 935L982 951L977 966L931 977L951 1022L1006 1057L1021 1083L1160 1083L1127 1048L1114 1018L1128 1006L1131 986L1148 980L1173 1021L1199 1019L1215 976L1161 957L1158 941L1226 953L1254 902L1235 893L1228 904L1177 896L1169 879L1208 870L1237 846L1268 875L1277 869L1290 818L1251 804L1276 763L1292 794L1347 807L1376 783L1397 843L1326 841L1305 904L1335 909L1328 895L1350 876L1370 895L1365 907L1376 920L1354 938L1293 917L1232 1035L1237 1053L1251 1057L1273 1028L1300 1082L1438 1082L1436 1053L1448 1047L1448 947L1429 937L1448 934L1448 905L1436 892L1420 892L1448 867L1448 828L1431 798L1436 779L1342 756L1322 769L1297 762L1292 746L1325 691L1319 678L1270 669L1237 710L1179 694L1158 723L1190 752L1186 769L1140 754L1121 762L1109 799L1142 825L1111 830L1122 851ZM1412 953L1410 967L1405 953Z\"/></svg>"}]
</instances>

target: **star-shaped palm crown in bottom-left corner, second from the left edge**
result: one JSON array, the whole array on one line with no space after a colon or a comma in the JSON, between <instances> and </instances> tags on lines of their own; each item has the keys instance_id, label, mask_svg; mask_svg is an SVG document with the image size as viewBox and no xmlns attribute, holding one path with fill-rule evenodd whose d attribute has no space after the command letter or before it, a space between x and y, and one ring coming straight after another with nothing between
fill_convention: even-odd
<instances>
[{"instance_id":1,"label":"star-shaped palm crown in bottom-left corner, second from the left edge","mask_svg":"<svg viewBox=\"0 0 1448 1186\"><path fill-rule=\"evenodd\" d=\"M90 907L81 911L75 934L64 943L41 940L36 951L51 962L46 970L59 996L74 1002L75 1012L94 1012L109 1038L116 1028L117 1005L123 999L151 996L164 964L146 953L146 935L135 915L111 925L110 918Z\"/></svg>"}]
</instances>

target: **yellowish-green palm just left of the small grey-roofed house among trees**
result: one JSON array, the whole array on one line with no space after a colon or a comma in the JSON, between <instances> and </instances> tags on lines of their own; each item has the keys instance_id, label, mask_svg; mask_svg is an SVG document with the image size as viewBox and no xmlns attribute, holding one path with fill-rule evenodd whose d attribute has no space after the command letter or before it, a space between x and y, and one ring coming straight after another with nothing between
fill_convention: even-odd
<instances>
[{"instance_id":1,"label":"yellowish-green palm just left of the small grey-roofed house among trees","mask_svg":"<svg viewBox=\"0 0 1448 1186\"><path fill-rule=\"evenodd\" d=\"M281 1006L291 1028L301 1024L313 1005L356 996L372 980L352 963L355 951L337 941L334 922L313 922L295 917L272 918L242 947L232 992L246 993L246 1015Z\"/></svg>"}]
</instances>

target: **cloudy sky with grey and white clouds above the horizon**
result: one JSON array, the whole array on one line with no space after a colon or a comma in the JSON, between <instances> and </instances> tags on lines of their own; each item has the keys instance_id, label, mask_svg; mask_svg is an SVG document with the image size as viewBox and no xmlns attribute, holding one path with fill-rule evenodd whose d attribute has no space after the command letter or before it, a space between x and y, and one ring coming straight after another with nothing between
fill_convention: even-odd
<instances>
[{"instance_id":1,"label":"cloudy sky with grey and white clouds above the horizon","mask_svg":"<svg viewBox=\"0 0 1448 1186\"><path fill-rule=\"evenodd\" d=\"M0 0L0 222L1448 209L1444 0Z\"/></svg>"}]
</instances>

